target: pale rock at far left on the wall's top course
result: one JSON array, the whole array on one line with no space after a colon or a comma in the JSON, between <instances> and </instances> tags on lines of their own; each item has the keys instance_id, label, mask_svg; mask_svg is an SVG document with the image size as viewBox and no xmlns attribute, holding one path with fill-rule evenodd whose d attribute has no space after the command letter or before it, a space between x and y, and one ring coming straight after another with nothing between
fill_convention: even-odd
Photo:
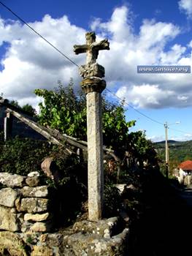
<instances>
[{"instance_id":1,"label":"pale rock at far left on the wall's top course","mask_svg":"<svg viewBox=\"0 0 192 256\"><path fill-rule=\"evenodd\" d=\"M18 174L0 173L0 183L7 187L23 187L25 177Z\"/></svg>"}]
</instances>

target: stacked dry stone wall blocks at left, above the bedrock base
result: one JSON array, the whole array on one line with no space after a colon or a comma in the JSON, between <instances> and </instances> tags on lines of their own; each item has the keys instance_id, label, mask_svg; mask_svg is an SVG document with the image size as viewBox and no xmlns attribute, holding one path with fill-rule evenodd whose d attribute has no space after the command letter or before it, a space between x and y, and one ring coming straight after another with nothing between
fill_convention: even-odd
<instances>
[{"instance_id":1,"label":"stacked dry stone wall blocks at left, above the bedrock base","mask_svg":"<svg viewBox=\"0 0 192 256\"><path fill-rule=\"evenodd\" d=\"M28 177L0 173L0 230L49 232L52 214L47 186L40 186L39 173Z\"/></svg>"}]
</instances>

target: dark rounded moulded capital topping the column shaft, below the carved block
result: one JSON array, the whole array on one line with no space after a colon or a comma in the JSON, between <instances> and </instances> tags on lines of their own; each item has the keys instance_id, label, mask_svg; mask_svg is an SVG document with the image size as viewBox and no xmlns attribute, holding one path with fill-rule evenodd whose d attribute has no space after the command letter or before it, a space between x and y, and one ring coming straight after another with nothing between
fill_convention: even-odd
<instances>
[{"instance_id":1,"label":"dark rounded moulded capital topping the column shaft, below the carved block","mask_svg":"<svg viewBox=\"0 0 192 256\"><path fill-rule=\"evenodd\" d=\"M92 77L83 79L80 85L82 87L82 91L84 91L85 94L88 94L92 91L101 93L106 87L106 82L101 78Z\"/></svg>"}]
</instances>

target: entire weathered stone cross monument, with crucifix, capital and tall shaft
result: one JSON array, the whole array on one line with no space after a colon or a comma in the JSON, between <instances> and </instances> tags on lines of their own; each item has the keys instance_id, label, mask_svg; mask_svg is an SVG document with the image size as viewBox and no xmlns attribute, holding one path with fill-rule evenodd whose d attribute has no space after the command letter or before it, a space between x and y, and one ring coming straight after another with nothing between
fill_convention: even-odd
<instances>
[{"instance_id":1,"label":"entire weathered stone cross monument, with crucifix, capital and tall shaft","mask_svg":"<svg viewBox=\"0 0 192 256\"><path fill-rule=\"evenodd\" d=\"M104 67L96 63L99 50L110 50L107 39L96 42L94 32L85 35L86 45L74 45L74 53L87 53L87 63L80 67L82 90L87 99L88 136L88 218L102 217L104 194L103 135L101 121L101 92L106 87Z\"/></svg>"}]
</instances>

